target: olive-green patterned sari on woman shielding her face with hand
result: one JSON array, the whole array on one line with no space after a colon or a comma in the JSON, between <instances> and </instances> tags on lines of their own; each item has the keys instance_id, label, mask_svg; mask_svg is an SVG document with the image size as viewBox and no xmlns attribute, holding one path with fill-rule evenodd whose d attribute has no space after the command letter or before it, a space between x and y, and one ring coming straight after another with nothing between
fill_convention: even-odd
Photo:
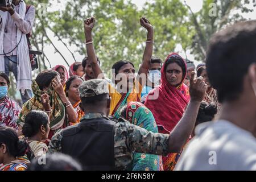
<instances>
[{"instance_id":1,"label":"olive-green patterned sari on woman shielding her face with hand","mask_svg":"<svg viewBox=\"0 0 256 182\"><path fill-rule=\"evenodd\" d=\"M34 97L28 100L22 107L22 111L20 111L19 119L17 121L18 125L24 125L24 119L27 113L31 110L44 110L43 105L41 104L41 96L46 93L40 90L38 84L35 80L32 82L32 91L34 93ZM60 129L65 121L65 106L61 102L60 97L57 93L51 88L49 90L49 103L51 105L52 111L50 115L50 128L51 130Z\"/></svg>"}]
</instances>

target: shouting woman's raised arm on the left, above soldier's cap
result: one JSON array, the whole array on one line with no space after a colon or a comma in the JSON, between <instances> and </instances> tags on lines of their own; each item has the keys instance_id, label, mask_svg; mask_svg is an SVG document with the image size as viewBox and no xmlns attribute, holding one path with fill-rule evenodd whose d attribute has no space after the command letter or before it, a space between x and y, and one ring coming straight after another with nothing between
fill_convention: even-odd
<instances>
[{"instance_id":1,"label":"shouting woman's raised arm on the left, above soldier's cap","mask_svg":"<svg viewBox=\"0 0 256 182\"><path fill-rule=\"evenodd\" d=\"M88 64L92 66L92 70L94 72L94 75L98 78L99 75L102 75L101 78L104 78L104 75L102 74L100 65L97 61L97 56L94 50L93 46L93 38L92 38L92 30L95 24L95 18L87 18L84 20L84 34L85 34L85 40L86 40L86 52L88 56Z\"/></svg>"}]
</instances>

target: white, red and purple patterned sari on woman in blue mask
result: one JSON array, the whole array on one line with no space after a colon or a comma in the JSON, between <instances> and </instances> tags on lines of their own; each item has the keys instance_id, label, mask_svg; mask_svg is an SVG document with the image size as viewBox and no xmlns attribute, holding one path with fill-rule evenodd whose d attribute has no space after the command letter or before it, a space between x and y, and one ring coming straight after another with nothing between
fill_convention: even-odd
<instances>
[{"instance_id":1,"label":"white, red and purple patterned sari on woman in blue mask","mask_svg":"<svg viewBox=\"0 0 256 182\"><path fill-rule=\"evenodd\" d=\"M0 127L9 126L18 131L19 126L16 121L20 110L20 106L6 96L5 100L0 103Z\"/></svg>"}]
</instances>

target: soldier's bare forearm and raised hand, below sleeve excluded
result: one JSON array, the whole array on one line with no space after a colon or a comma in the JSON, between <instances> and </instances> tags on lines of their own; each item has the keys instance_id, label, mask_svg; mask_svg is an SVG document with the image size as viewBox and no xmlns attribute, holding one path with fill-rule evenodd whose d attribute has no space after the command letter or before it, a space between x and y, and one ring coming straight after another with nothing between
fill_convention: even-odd
<instances>
[{"instance_id":1,"label":"soldier's bare forearm and raised hand, below sleeve excluded","mask_svg":"<svg viewBox=\"0 0 256 182\"><path fill-rule=\"evenodd\" d=\"M201 77L194 80L195 72L191 75L191 85L189 93L191 94L191 101L188 104L187 110L183 117L177 123L174 130L172 130L169 137L169 151L180 152L187 142L189 135L191 135L193 128L195 127L197 114L201 101L204 99L207 84L202 80Z\"/></svg>"}]
</instances>

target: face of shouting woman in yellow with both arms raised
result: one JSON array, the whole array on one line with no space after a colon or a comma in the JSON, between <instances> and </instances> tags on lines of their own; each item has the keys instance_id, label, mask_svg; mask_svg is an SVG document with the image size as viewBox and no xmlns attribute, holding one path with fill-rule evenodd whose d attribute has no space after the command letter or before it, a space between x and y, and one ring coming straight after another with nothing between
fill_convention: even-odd
<instances>
[{"instance_id":1,"label":"face of shouting woman in yellow with both arms raised","mask_svg":"<svg viewBox=\"0 0 256 182\"><path fill-rule=\"evenodd\" d=\"M117 82L120 82L122 79L125 79L125 81L127 82L124 83L124 85L127 84L129 88L133 88L133 83L135 79L135 69L133 65L131 65L130 63L123 65L119 69L118 76L116 75L115 79L117 80Z\"/></svg>"}]
</instances>

